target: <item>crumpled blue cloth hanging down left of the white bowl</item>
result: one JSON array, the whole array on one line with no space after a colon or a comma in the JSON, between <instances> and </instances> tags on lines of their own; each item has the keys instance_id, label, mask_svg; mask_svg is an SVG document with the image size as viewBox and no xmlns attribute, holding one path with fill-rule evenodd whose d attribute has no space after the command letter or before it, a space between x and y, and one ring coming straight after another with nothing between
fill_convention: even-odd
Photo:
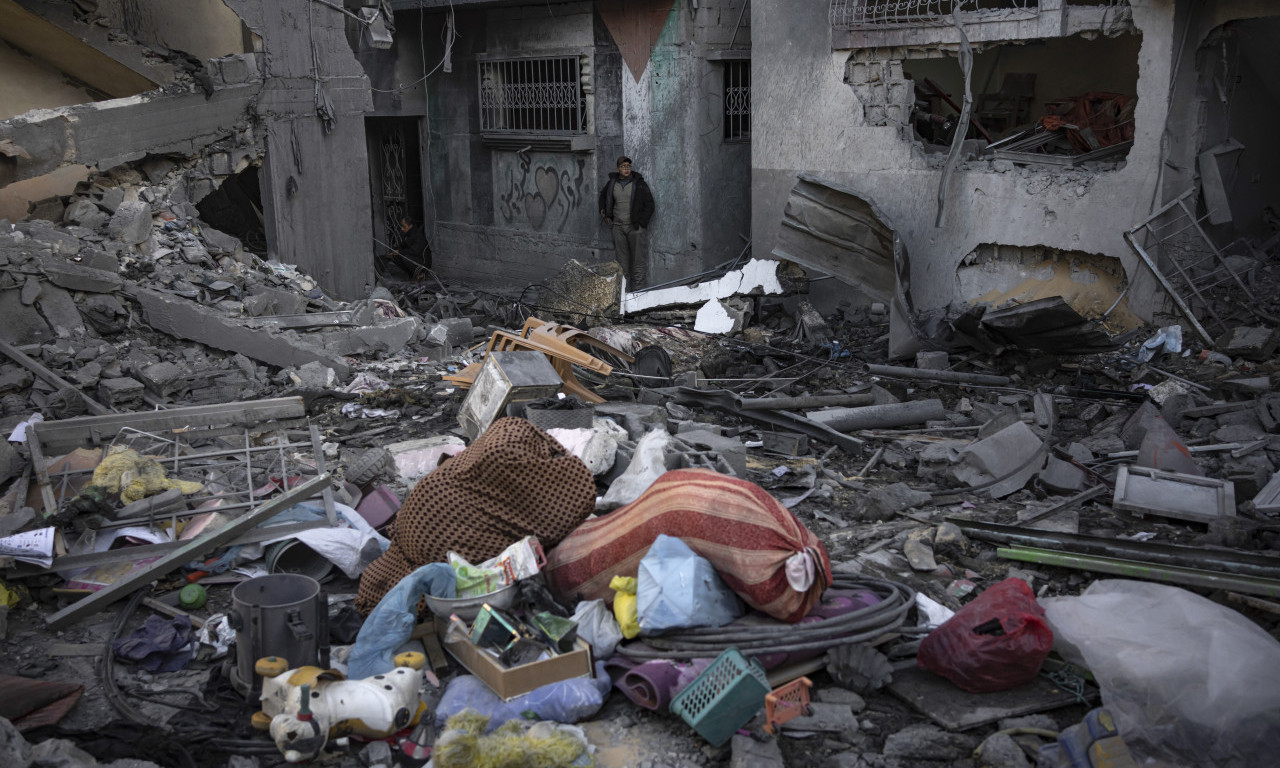
<instances>
[{"instance_id":1,"label":"crumpled blue cloth hanging down left of the white bowl","mask_svg":"<svg viewBox=\"0 0 1280 768\"><path fill-rule=\"evenodd\" d=\"M417 623L419 598L431 595L452 600L456 594L449 563L430 563L401 579L361 625L347 659L347 678L364 680L394 669L396 649L410 639Z\"/></svg>"}]
</instances>

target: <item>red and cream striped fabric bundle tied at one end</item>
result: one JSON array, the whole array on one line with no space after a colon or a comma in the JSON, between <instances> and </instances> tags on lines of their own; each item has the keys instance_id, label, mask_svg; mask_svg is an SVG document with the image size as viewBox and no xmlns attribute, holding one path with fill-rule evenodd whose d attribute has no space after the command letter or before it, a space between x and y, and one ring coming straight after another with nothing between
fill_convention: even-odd
<instances>
[{"instance_id":1,"label":"red and cream striped fabric bundle tied at one end","mask_svg":"<svg viewBox=\"0 0 1280 768\"><path fill-rule=\"evenodd\" d=\"M682 539L742 600L782 621L804 618L831 585L818 536L759 485L710 470L666 472L635 502L584 522L548 553L545 572L566 598L612 600L609 580L635 576L659 534ZM786 561L805 549L818 576L800 593Z\"/></svg>"}]
</instances>

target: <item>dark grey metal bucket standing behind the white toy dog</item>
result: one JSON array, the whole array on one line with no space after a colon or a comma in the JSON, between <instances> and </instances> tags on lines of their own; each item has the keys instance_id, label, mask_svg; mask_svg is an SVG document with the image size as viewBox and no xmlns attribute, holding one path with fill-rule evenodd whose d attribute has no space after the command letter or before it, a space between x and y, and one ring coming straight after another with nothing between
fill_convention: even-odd
<instances>
[{"instance_id":1,"label":"dark grey metal bucket standing behind the white toy dog","mask_svg":"<svg viewBox=\"0 0 1280 768\"><path fill-rule=\"evenodd\" d=\"M244 696L262 689L253 664L280 657L289 667L329 666L329 605L320 582L298 573L259 576L232 590L236 667L232 686Z\"/></svg>"}]
</instances>

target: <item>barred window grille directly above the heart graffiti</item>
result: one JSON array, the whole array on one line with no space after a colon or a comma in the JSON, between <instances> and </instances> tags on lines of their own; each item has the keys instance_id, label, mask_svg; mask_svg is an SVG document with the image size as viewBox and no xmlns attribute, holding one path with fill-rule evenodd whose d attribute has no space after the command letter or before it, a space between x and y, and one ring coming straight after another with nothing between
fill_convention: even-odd
<instances>
[{"instance_id":1,"label":"barred window grille directly above the heart graffiti","mask_svg":"<svg viewBox=\"0 0 1280 768\"><path fill-rule=\"evenodd\" d=\"M586 102L577 56L480 61L480 129L582 133Z\"/></svg>"}]
</instances>

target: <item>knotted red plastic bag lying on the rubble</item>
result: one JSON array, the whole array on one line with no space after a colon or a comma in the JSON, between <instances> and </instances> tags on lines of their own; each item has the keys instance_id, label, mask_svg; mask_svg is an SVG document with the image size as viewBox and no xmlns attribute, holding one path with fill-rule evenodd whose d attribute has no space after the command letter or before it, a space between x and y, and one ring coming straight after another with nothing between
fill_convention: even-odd
<instances>
[{"instance_id":1,"label":"knotted red plastic bag lying on the rubble","mask_svg":"<svg viewBox=\"0 0 1280 768\"><path fill-rule=\"evenodd\" d=\"M1005 579L929 632L915 663L957 687L987 694L1030 682L1052 648L1053 630L1032 588Z\"/></svg>"}]
</instances>

